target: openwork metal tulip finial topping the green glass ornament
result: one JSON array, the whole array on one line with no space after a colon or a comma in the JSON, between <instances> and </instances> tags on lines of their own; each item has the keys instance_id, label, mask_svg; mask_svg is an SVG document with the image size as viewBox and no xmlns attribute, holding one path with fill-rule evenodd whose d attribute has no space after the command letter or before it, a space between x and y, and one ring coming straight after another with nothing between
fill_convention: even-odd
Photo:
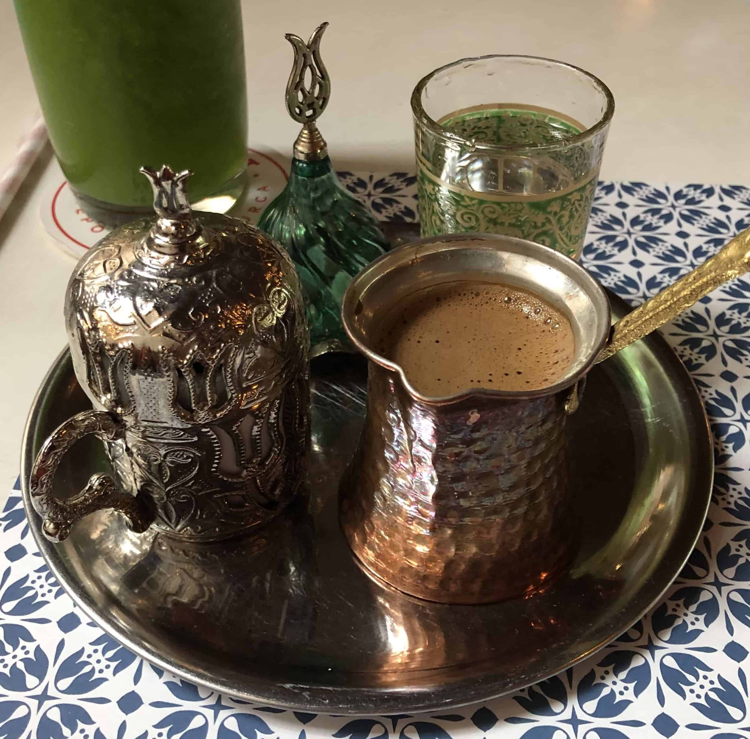
<instances>
[{"instance_id":1,"label":"openwork metal tulip finial topping the green glass ornament","mask_svg":"<svg viewBox=\"0 0 750 739\"><path fill-rule=\"evenodd\" d=\"M318 161L328 156L326 140L315 124L331 96L331 80L320 59L320 39L326 28L328 23L321 23L307 44L296 34L284 35L294 49L294 65L287 82L287 110L294 120L302 123L302 131L294 143L294 156L303 161Z\"/></svg>"}]
</instances>

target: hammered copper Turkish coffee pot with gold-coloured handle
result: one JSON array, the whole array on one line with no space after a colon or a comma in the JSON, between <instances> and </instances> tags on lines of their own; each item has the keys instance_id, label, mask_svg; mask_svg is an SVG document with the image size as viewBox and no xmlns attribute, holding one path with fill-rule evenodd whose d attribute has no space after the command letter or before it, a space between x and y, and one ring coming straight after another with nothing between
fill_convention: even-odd
<instances>
[{"instance_id":1,"label":"hammered copper Turkish coffee pot with gold-coloured handle","mask_svg":"<svg viewBox=\"0 0 750 739\"><path fill-rule=\"evenodd\" d=\"M447 603L543 589L574 555L565 421L586 374L750 269L750 230L615 326L604 289L550 248L490 234L422 239L357 275L342 317L368 357L365 428L341 485L341 523L371 574ZM568 317L575 351L553 386L429 397L377 352L382 318L410 293L456 280L501 281Z\"/></svg>"}]
</instances>

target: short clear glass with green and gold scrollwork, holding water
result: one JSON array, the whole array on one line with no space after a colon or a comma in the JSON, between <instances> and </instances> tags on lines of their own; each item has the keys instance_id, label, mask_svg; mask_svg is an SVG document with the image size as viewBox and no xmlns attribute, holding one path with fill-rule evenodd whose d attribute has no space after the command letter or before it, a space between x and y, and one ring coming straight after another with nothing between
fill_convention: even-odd
<instances>
[{"instance_id":1,"label":"short clear glass with green and gold scrollwork, holding water","mask_svg":"<svg viewBox=\"0 0 750 739\"><path fill-rule=\"evenodd\" d=\"M533 56L461 59L412 94L422 236L519 236L578 257L614 113L607 86Z\"/></svg>"}]
</instances>

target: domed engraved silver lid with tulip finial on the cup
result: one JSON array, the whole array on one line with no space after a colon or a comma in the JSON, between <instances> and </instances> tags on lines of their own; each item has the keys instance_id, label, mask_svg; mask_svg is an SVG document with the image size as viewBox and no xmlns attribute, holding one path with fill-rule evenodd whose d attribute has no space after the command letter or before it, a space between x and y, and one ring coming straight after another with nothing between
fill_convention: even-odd
<instances>
[{"instance_id":1,"label":"domed engraved silver lid with tulip finial on the cup","mask_svg":"<svg viewBox=\"0 0 750 739\"><path fill-rule=\"evenodd\" d=\"M189 172L141 171L157 218L102 239L68 285L81 384L104 410L169 425L263 403L307 359L293 263L245 221L191 212Z\"/></svg>"}]
</instances>

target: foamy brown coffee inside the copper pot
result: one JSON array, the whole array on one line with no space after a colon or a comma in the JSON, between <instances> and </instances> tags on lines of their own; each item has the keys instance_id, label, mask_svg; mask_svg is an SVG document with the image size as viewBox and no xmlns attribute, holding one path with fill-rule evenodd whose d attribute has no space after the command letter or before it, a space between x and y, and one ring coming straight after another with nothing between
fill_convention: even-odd
<instances>
[{"instance_id":1,"label":"foamy brown coffee inside the copper pot","mask_svg":"<svg viewBox=\"0 0 750 739\"><path fill-rule=\"evenodd\" d=\"M386 317L379 350L422 395L554 385L575 348L570 321L534 293L478 281L418 290Z\"/></svg>"}]
</instances>

